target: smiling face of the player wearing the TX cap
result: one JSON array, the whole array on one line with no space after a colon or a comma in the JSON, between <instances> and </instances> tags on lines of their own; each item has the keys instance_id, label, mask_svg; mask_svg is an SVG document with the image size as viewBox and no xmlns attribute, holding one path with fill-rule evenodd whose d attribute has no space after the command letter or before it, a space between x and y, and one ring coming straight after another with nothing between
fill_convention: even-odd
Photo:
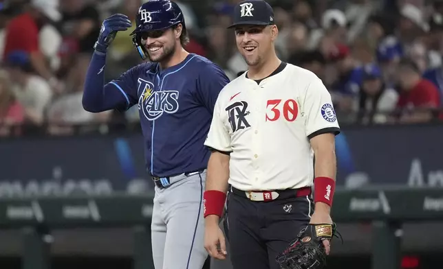
<instances>
[{"instance_id":1,"label":"smiling face of the player wearing the TX cap","mask_svg":"<svg viewBox=\"0 0 443 269\"><path fill-rule=\"evenodd\" d=\"M260 65L270 56L278 30L275 25L239 25L235 27L237 49L250 67Z\"/></svg>"}]
</instances>

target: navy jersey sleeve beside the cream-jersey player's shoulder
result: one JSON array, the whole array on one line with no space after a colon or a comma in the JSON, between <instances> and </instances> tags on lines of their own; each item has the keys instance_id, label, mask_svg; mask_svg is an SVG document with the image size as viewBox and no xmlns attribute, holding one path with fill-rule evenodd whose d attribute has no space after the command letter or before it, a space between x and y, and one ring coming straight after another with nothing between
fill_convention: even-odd
<instances>
[{"instance_id":1,"label":"navy jersey sleeve beside the cream-jersey player's shoulder","mask_svg":"<svg viewBox=\"0 0 443 269\"><path fill-rule=\"evenodd\" d=\"M206 107L210 115L214 113L217 97L229 83L229 78L224 71L215 64L207 65L199 73L197 81L196 98Z\"/></svg>"}]
</instances>

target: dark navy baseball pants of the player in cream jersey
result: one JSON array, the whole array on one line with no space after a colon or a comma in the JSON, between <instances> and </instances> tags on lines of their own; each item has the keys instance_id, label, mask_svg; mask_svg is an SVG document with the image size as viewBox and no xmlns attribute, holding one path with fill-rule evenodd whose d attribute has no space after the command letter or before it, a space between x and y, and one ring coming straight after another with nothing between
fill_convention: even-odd
<instances>
[{"instance_id":1,"label":"dark navy baseball pants of the player in cream jersey","mask_svg":"<svg viewBox=\"0 0 443 269\"><path fill-rule=\"evenodd\" d=\"M233 269L279 269L277 255L309 223L314 212L309 188L277 192L275 200L253 201L230 188L226 222Z\"/></svg>"}]
</instances>

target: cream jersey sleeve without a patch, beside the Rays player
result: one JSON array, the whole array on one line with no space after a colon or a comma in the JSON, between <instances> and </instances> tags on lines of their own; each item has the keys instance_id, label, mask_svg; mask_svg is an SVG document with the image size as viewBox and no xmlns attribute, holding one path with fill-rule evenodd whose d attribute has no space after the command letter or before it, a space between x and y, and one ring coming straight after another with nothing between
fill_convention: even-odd
<instances>
[{"instance_id":1,"label":"cream jersey sleeve without a patch, beside the Rays player","mask_svg":"<svg viewBox=\"0 0 443 269\"><path fill-rule=\"evenodd\" d=\"M220 102L219 96L217 102L215 102L213 120L210 123L208 137L206 138L204 145L215 150L232 152L229 131L226 130L222 117L220 117L220 113L224 112L224 110L221 109Z\"/></svg>"}]
</instances>

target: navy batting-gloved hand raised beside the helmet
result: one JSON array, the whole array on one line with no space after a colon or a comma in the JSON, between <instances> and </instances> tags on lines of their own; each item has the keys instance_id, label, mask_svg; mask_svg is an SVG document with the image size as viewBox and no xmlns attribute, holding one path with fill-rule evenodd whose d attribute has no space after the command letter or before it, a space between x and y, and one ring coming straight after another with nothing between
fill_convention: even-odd
<instances>
[{"instance_id":1,"label":"navy batting-gloved hand raised beside the helmet","mask_svg":"<svg viewBox=\"0 0 443 269\"><path fill-rule=\"evenodd\" d=\"M131 20L124 14L114 14L109 16L102 23L102 28L94 49L106 53L107 47L112 43L118 31L126 31L131 27Z\"/></svg>"}]
</instances>

